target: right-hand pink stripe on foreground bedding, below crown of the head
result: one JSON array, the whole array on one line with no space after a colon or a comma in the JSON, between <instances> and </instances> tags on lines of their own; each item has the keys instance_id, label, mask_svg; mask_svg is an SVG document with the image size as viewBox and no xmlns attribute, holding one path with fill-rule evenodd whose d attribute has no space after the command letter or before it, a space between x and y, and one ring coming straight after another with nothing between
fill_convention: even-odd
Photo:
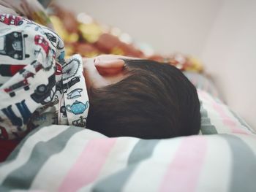
<instances>
[{"instance_id":1,"label":"right-hand pink stripe on foreground bedding, below crown of the head","mask_svg":"<svg viewBox=\"0 0 256 192\"><path fill-rule=\"evenodd\" d=\"M196 191L206 150L204 137L184 137L167 168L160 191Z\"/></svg>"}]
</instances>

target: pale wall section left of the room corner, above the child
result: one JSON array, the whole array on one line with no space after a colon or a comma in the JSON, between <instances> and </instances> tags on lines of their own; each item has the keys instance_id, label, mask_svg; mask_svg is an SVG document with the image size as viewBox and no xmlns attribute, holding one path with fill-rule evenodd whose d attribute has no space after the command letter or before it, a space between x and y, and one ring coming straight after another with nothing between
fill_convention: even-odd
<instances>
[{"instance_id":1,"label":"pale wall section left of the room corner, above the child","mask_svg":"<svg viewBox=\"0 0 256 192\"><path fill-rule=\"evenodd\" d=\"M58 0L74 12L118 26L158 53L200 55L223 0Z\"/></svg>"}]
</instances>

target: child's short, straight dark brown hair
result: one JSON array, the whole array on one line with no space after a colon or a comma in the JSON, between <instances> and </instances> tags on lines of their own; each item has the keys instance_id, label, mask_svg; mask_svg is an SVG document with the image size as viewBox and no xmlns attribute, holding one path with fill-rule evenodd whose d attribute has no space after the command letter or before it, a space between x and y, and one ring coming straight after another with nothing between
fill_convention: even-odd
<instances>
[{"instance_id":1,"label":"child's short, straight dark brown hair","mask_svg":"<svg viewBox=\"0 0 256 192\"><path fill-rule=\"evenodd\" d=\"M89 90L87 128L108 137L162 139L198 134L195 86L169 64L125 60L127 77Z\"/></svg>"}]
</instances>

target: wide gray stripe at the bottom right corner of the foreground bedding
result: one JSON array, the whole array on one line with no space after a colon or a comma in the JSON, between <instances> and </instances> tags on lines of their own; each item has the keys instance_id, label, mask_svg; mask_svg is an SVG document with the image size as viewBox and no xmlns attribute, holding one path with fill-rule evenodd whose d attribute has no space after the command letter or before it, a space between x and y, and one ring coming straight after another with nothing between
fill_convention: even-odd
<instances>
[{"instance_id":1,"label":"wide gray stripe at the bottom right corner of the foreground bedding","mask_svg":"<svg viewBox=\"0 0 256 192\"><path fill-rule=\"evenodd\" d=\"M256 155L251 148L239 137L222 135L227 140L232 152L232 172L230 191L256 191Z\"/></svg>"}]
</instances>

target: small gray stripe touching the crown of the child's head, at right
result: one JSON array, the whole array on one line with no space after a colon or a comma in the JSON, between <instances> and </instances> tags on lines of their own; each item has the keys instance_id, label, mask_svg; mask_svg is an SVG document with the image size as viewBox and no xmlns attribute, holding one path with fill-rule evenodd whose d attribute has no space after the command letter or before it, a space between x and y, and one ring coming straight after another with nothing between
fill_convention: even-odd
<instances>
[{"instance_id":1,"label":"small gray stripe touching the crown of the child's head, at right","mask_svg":"<svg viewBox=\"0 0 256 192\"><path fill-rule=\"evenodd\" d=\"M201 113L201 132L202 134L218 134L217 129L211 124L211 119L208 118L208 112L203 108L203 102L200 101Z\"/></svg>"}]
</instances>

